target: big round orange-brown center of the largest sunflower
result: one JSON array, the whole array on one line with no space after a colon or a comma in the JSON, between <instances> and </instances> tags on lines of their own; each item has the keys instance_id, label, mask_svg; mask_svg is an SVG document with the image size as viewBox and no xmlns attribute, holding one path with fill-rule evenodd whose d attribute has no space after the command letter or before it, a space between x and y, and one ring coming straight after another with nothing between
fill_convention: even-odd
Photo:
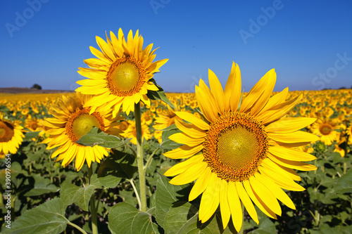
<instances>
[{"instance_id":1,"label":"big round orange-brown center of the largest sunflower","mask_svg":"<svg viewBox=\"0 0 352 234\"><path fill-rule=\"evenodd\" d=\"M249 114L227 112L207 131L203 156L211 170L227 181L246 181L268 152L263 124Z\"/></svg>"}]
</instances>

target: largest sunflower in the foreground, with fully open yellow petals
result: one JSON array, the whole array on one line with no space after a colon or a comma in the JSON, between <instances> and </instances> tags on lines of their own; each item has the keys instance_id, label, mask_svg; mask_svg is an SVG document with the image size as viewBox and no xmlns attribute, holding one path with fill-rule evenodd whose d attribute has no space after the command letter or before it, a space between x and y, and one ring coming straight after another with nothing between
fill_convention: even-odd
<instances>
[{"instance_id":1,"label":"largest sunflower in the foreground, with fully open yellow petals","mask_svg":"<svg viewBox=\"0 0 352 234\"><path fill-rule=\"evenodd\" d=\"M301 161L315 157L294 147L317 141L318 136L298 131L314 118L286 117L301 100L286 100L288 89L271 96L276 81L270 70L251 91L241 98L241 74L233 63L225 91L209 70L208 86L200 80L196 99L206 119L188 112L176 112L184 121L175 119L182 133L170 136L184 144L165 153L172 159L186 159L165 172L175 176L170 183L182 185L196 180L189 200L201 195L199 219L208 221L218 209L226 228L232 216L237 230L242 225L241 202L251 218L258 223L257 207L273 219L281 215L280 200L295 209L285 190L304 190L294 181L301 178L294 169L315 170Z\"/></svg>"}]
</instances>

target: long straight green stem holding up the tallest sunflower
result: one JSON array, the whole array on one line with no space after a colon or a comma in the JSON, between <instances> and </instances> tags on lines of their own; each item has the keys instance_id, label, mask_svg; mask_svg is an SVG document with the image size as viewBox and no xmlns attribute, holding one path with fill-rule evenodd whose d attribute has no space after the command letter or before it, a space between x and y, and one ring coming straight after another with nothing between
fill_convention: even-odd
<instances>
[{"instance_id":1,"label":"long straight green stem holding up the tallest sunflower","mask_svg":"<svg viewBox=\"0 0 352 234\"><path fill-rule=\"evenodd\" d=\"M139 174L139 195L141 197L141 212L146 212L146 175L144 173L143 145L142 145L142 125L141 106L134 104L134 121L136 122L137 135L137 166Z\"/></svg>"}]
</instances>

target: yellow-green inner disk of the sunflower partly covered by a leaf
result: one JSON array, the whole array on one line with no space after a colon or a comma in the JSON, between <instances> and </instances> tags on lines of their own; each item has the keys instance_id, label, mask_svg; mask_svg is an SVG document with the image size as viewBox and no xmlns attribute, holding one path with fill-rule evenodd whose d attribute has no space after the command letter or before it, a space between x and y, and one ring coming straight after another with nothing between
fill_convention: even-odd
<instances>
[{"instance_id":1,"label":"yellow-green inner disk of the sunflower partly covered by a leaf","mask_svg":"<svg viewBox=\"0 0 352 234\"><path fill-rule=\"evenodd\" d=\"M93 126L100 127L98 119L94 115L80 115L73 120L72 131L77 139L87 134Z\"/></svg>"}]
</instances>

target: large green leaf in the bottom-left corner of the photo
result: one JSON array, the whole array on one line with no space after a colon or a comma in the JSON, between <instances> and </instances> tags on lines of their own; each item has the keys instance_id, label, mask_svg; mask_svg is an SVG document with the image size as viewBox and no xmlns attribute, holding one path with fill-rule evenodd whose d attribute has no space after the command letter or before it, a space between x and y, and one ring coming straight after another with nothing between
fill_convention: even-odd
<instances>
[{"instance_id":1,"label":"large green leaf in the bottom-left corner of the photo","mask_svg":"<svg viewBox=\"0 0 352 234\"><path fill-rule=\"evenodd\" d=\"M28 210L18 217L11 229L6 228L3 233L11 234L55 234L62 233L67 226L65 205L60 198L54 198Z\"/></svg>"}]
</instances>

